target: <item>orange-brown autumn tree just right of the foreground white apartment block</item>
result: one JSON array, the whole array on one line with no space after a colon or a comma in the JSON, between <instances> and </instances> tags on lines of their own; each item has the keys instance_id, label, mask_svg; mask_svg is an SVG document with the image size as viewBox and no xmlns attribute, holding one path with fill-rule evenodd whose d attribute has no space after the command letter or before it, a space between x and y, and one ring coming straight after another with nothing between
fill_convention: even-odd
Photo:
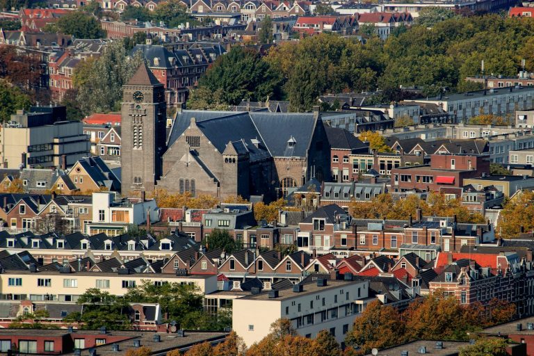
<instances>
[{"instance_id":1,"label":"orange-brown autumn tree just right of the foreground white apartment block","mask_svg":"<svg viewBox=\"0 0 534 356\"><path fill-rule=\"evenodd\" d=\"M345 342L369 353L372 348L389 348L405 341L405 325L397 310L375 300L355 319Z\"/></svg>"}]
</instances>

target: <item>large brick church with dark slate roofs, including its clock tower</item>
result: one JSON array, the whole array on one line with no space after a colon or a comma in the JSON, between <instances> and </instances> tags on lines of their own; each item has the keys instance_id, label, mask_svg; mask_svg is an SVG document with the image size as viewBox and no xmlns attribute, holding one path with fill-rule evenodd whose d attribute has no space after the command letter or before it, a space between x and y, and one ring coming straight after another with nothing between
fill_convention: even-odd
<instances>
[{"instance_id":1,"label":"large brick church with dark slate roofs, including its clock tower","mask_svg":"<svg viewBox=\"0 0 534 356\"><path fill-rule=\"evenodd\" d=\"M311 178L330 178L330 145L318 110L179 110L165 138L164 88L154 74L142 65L123 89L124 195L163 188L270 201Z\"/></svg>"}]
</instances>

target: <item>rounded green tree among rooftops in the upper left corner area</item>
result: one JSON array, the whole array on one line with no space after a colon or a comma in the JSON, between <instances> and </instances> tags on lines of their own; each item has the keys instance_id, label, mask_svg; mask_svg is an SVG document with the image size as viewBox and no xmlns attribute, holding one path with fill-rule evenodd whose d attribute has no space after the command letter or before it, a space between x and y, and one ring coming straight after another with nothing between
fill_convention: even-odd
<instances>
[{"instance_id":1,"label":"rounded green tree among rooftops in the upper left corner area","mask_svg":"<svg viewBox=\"0 0 534 356\"><path fill-rule=\"evenodd\" d=\"M74 38L105 37L104 30L100 27L98 20L81 11L67 13L52 26L47 26L44 31L65 33L74 36Z\"/></svg>"}]
</instances>

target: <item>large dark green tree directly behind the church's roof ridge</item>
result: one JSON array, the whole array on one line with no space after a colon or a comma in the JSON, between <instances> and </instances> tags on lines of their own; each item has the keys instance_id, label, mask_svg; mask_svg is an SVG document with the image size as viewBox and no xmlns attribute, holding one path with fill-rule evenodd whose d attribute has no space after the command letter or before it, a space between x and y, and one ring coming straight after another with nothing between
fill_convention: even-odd
<instances>
[{"instance_id":1,"label":"large dark green tree directly behind the church's roof ridge","mask_svg":"<svg viewBox=\"0 0 534 356\"><path fill-rule=\"evenodd\" d=\"M264 101L268 97L280 97L277 91L280 82L280 73L262 60L257 51L233 47L228 54L217 58L199 80L199 87L211 92L223 90L224 104L236 105L248 98Z\"/></svg>"}]
</instances>

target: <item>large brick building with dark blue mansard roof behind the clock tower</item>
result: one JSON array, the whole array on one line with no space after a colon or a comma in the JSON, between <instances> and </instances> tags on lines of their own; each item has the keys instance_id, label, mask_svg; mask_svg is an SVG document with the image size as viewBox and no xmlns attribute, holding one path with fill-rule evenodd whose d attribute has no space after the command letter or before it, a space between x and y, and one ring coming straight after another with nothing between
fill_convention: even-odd
<instances>
[{"instance_id":1,"label":"large brick building with dark blue mansard roof behind the clock tower","mask_svg":"<svg viewBox=\"0 0 534 356\"><path fill-rule=\"evenodd\" d=\"M138 44L132 54L141 51L148 67L165 87L168 105L185 103L189 88L197 85L200 76L225 50L220 46L167 49L163 46Z\"/></svg>"}]
</instances>

